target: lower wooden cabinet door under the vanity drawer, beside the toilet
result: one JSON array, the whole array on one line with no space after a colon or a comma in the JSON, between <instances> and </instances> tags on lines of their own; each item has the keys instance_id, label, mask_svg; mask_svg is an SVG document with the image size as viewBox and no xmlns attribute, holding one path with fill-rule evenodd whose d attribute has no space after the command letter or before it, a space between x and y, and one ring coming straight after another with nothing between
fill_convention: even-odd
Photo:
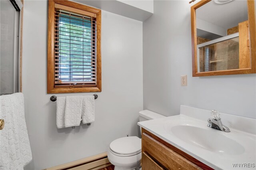
<instances>
[{"instance_id":1,"label":"lower wooden cabinet door under the vanity drawer, beside the toilet","mask_svg":"<svg viewBox=\"0 0 256 170\"><path fill-rule=\"evenodd\" d=\"M145 152L142 152L142 170L164 170L164 168L159 166Z\"/></svg>"}]
</instances>

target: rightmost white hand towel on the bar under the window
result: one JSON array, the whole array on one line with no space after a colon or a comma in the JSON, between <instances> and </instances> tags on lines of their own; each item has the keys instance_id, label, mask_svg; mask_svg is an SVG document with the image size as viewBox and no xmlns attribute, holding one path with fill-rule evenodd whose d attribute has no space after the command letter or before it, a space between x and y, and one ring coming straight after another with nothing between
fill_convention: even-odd
<instances>
[{"instance_id":1,"label":"rightmost white hand towel on the bar under the window","mask_svg":"<svg viewBox=\"0 0 256 170\"><path fill-rule=\"evenodd\" d=\"M94 96L83 96L82 123L92 123L94 119Z\"/></svg>"}]
</instances>

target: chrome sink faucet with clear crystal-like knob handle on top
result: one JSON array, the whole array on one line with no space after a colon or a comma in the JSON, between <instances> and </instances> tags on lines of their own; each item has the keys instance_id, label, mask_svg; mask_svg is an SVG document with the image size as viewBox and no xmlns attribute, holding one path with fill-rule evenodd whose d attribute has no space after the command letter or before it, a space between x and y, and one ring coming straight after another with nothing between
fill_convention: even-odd
<instances>
[{"instance_id":1,"label":"chrome sink faucet with clear crystal-like knob handle on top","mask_svg":"<svg viewBox=\"0 0 256 170\"><path fill-rule=\"evenodd\" d=\"M218 111L211 111L212 119L208 119L208 127L215 128L217 130L221 130L223 132L230 132L229 128L225 125L222 125L222 122L220 120L220 113Z\"/></svg>"}]
</instances>

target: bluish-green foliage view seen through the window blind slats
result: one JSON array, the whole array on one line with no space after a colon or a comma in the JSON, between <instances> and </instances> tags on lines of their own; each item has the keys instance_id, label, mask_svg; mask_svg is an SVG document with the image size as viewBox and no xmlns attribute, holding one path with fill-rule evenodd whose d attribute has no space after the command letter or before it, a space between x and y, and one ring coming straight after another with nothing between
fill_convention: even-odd
<instances>
[{"instance_id":1,"label":"bluish-green foliage view seen through the window blind slats","mask_svg":"<svg viewBox=\"0 0 256 170\"><path fill-rule=\"evenodd\" d=\"M58 83L95 81L92 20L70 14L58 16ZM88 82L89 83L89 82Z\"/></svg>"}]
</instances>

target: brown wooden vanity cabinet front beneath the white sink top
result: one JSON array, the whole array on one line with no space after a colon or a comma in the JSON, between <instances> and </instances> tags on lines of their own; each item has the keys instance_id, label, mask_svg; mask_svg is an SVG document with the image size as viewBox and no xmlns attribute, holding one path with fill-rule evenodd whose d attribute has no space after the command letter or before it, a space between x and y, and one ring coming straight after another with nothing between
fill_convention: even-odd
<instances>
[{"instance_id":1,"label":"brown wooden vanity cabinet front beneath the white sink top","mask_svg":"<svg viewBox=\"0 0 256 170\"><path fill-rule=\"evenodd\" d=\"M142 128L142 170L213 170Z\"/></svg>"}]
</instances>

